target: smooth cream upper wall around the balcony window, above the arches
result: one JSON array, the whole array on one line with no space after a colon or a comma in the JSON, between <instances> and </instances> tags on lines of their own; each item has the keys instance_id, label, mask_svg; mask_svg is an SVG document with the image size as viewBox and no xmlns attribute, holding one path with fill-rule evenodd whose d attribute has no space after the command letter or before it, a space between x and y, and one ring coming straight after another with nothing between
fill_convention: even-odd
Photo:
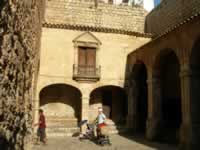
<instances>
[{"instance_id":1,"label":"smooth cream upper wall around the balcony window, above the arches","mask_svg":"<svg viewBox=\"0 0 200 150\"><path fill-rule=\"evenodd\" d=\"M80 88L82 83L76 82L72 77L73 64L78 63L73 40L83 33L85 32L43 28L38 93L45 86L54 83L66 83ZM101 66L101 79L89 85L98 87L115 83L114 85L123 86L127 54L150 39L114 33L91 33L102 43L96 53L96 65Z\"/></svg>"}]
</instances>

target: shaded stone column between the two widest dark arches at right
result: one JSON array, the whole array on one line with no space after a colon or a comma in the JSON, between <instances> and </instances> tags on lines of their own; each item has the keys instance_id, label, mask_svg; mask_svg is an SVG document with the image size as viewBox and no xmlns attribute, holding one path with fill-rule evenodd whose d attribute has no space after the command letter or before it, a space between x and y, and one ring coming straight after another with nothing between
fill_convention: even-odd
<instances>
[{"instance_id":1,"label":"shaded stone column between the two widest dark arches at right","mask_svg":"<svg viewBox=\"0 0 200 150\"><path fill-rule=\"evenodd\" d=\"M146 137L149 140L155 139L161 129L161 87L159 76L149 73L148 84L148 119Z\"/></svg>"}]
</instances>

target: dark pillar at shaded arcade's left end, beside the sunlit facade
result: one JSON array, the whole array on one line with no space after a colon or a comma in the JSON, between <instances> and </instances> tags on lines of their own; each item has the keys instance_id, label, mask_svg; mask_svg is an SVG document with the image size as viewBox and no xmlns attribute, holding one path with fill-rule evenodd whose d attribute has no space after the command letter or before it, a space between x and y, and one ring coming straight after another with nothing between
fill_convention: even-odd
<instances>
[{"instance_id":1,"label":"dark pillar at shaded arcade's left end, beside the sunlit facade","mask_svg":"<svg viewBox=\"0 0 200 150\"><path fill-rule=\"evenodd\" d=\"M136 101L137 101L136 81L132 80L128 91L127 127L133 129L134 131L137 130Z\"/></svg>"}]
</instances>

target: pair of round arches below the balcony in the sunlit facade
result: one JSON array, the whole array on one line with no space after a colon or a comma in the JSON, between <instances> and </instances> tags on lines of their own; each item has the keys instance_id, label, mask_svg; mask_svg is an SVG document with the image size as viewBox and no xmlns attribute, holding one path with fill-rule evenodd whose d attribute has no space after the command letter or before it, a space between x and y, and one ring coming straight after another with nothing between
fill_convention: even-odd
<instances>
[{"instance_id":1,"label":"pair of round arches below the balcony in the sunlit facade","mask_svg":"<svg viewBox=\"0 0 200 150\"><path fill-rule=\"evenodd\" d=\"M46 115L48 135L51 136L52 132L55 133L53 135L77 132L73 129L79 129L81 120L93 122L96 119L98 107L103 107L110 125L126 125L127 96L123 88L108 85L93 89L89 95L83 94L80 89L68 84L52 84L40 91L39 107Z\"/></svg>"}]
</instances>

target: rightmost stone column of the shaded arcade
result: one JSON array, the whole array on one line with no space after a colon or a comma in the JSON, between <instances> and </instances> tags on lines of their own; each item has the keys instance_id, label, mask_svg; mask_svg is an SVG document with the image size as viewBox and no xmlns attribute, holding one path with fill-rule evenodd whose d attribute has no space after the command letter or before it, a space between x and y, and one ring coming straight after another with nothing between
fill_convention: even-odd
<instances>
[{"instance_id":1,"label":"rightmost stone column of the shaded arcade","mask_svg":"<svg viewBox=\"0 0 200 150\"><path fill-rule=\"evenodd\" d=\"M182 104L182 124L180 128L180 149L189 150L191 140L191 96L190 81L191 72L188 66L182 66L180 71L181 80L181 104Z\"/></svg>"}]
</instances>

